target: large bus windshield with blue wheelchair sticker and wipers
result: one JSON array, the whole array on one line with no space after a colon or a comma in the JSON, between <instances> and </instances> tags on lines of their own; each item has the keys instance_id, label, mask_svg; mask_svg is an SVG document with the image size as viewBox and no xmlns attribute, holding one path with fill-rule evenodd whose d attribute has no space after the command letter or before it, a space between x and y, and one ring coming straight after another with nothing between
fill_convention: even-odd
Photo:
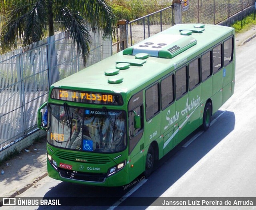
<instances>
[{"instance_id":1,"label":"large bus windshield with blue wheelchair sticker and wipers","mask_svg":"<svg viewBox=\"0 0 256 210\"><path fill-rule=\"evenodd\" d=\"M122 110L50 105L48 142L61 148L114 153L124 150L126 114Z\"/></svg>"}]
</instances>

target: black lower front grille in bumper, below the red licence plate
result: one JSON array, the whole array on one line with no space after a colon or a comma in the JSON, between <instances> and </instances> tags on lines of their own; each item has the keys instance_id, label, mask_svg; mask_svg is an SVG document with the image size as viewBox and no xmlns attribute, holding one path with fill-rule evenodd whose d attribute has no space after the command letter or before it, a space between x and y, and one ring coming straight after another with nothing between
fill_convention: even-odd
<instances>
[{"instance_id":1,"label":"black lower front grille in bumper, below the red licence plate","mask_svg":"<svg viewBox=\"0 0 256 210\"><path fill-rule=\"evenodd\" d=\"M58 168L58 171L62 178L86 181L86 182L105 182L105 179L107 176L106 173L85 173L85 172L67 170L63 168Z\"/></svg>"}]
</instances>

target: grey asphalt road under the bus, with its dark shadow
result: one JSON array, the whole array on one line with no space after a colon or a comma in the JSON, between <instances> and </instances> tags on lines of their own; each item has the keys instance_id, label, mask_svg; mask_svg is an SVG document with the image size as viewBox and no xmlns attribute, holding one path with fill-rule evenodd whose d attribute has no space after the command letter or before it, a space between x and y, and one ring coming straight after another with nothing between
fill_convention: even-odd
<instances>
[{"instance_id":1,"label":"grey asphalt road under the bus, with its dark shadow","mask_svg":"<svg viewBox=\"0 0 256 210\"><path fill-rule=\"evenodd\" d=\"M84 206L61 206L61 209L170 209L154 206L156 198L172 197L256 197L256 39L236 48L235 93L214 114L207 132L196 131L190 144L168 154L160 161L158 169L148 178L139 177L138 188L102 188L60 182L46 177L20 197L79 197ZM196 135L197 138L193 138ZM145 206L134 207L130 195L143 200ZM110 197L110 205L95 207ZM17 196L19 197L19 196ZM122 199L121 199L122 198ZM137 200L138 201L138 200ZM162 201L162 200L161 200ZM113 205L114 204L114 205ZM118 205L118 206L117 206ZM122 206L125 205L125 206ZM72 203L70 203L72 206ZM117 207L115 207L117 206ZM239 209L255 206L179 206L172 209ZM24 209L24 206L3 207ZM32 209L56 209L51 206L26 206Z\"/></svg>"}]
</instances>

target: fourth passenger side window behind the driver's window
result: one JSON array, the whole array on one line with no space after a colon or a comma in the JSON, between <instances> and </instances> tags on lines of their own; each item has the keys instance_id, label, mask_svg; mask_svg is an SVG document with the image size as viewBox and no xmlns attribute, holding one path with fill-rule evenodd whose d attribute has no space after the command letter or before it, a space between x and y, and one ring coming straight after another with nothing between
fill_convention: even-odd
<instances>
[{"instance_id":1,"label":"fourth passenger side window behind the driver's window","mask_svg":"<svg viewBox=\"0 0 256 210\"><path fill-rule=\"evenodd\" d=\"M188 64L188 78L190 90L193 90L200 83L199 62L200 59L198 58Z\"/></svg>"}]
</instances>

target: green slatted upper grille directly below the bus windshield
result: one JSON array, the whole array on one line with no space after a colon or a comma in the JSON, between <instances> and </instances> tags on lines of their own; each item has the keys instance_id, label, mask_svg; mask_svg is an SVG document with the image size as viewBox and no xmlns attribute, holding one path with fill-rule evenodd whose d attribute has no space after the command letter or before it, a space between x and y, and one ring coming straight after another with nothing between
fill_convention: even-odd
<instances>
[{"instance_id":1,"label":"green slatted upper grille directly below the bus windshield","mask_svg":"<svg viewBox=\"0 0 256 210\"><path fill-rule=\"evenodd\" d=\"M65 151L57 151L55 154L58 158L62 160L70 160L74 162L86 162L93 164L106 164L111 162L110 158L107 156L94 156L81 153L71 153Z\"/></svg>"}]
</instances>

